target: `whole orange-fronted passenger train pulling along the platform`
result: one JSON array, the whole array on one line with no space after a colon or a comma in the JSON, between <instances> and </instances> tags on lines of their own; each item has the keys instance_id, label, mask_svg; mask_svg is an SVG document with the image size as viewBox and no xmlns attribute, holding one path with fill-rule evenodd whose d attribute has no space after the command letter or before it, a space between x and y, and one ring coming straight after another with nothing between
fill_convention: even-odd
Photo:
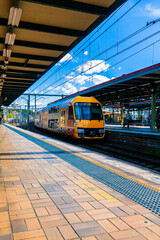
<instances>
[{"instance_id":1,"label":"whole orange-fronted passenger train pulling along the platform","mask_svg":"<svg viewBox=\"0 0 160 240\"><path fill-rule=\"evenodd\" d=\"M76 139L105 136L102 106L94 97L57 100L36 112L34 125Z\"/></svg>"}]
</instances>

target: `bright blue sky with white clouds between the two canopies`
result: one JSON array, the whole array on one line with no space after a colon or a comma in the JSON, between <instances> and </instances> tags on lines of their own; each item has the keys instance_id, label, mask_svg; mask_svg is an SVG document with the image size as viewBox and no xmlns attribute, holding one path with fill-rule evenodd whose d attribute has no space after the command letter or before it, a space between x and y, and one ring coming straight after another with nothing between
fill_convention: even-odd
<instances>
[{"instance_id":1,"label":"bright blue sky with white clouds between the two canopies","mask_svg":"<svg viewBox=\"0 0 160 240\"><path fill-rule=\"evenodd\" d=\"M160 19L160 1L128 0L112 15L26 93L70 95L159 63L160 21L146 25ZM37 97L37 105L43 107L57 99ZM26 100L20 97L14 103L23 105Z\"/></svg>"}]
</instances>

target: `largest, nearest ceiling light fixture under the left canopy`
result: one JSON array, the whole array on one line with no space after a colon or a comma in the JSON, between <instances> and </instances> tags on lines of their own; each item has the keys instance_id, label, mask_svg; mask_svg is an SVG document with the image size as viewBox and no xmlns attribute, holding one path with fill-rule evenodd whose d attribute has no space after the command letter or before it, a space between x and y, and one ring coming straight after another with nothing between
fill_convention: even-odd
<instances>
[{"instance_id":1,"label":"largest, nearest ceiling light fixture under the left canopy","mask_svg":"<svg viewBox=\"0 0 160 240\"><path fill-rule=\"evenodd\" d=\"M8 25L18 27L21 15L22 15L21 8L11 7L9 12Z\"/></svg>"}]
</instances>

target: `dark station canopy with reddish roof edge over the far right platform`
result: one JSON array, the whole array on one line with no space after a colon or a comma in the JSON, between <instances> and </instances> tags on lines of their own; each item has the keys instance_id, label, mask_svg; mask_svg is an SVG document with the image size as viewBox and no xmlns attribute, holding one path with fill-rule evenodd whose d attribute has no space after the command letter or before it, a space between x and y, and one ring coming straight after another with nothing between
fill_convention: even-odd
<instances>
[{"instance_id":1,"label":"dark station canopy with reddish roof edge over the far right platform","mask_svg":"<svg viewBox=\"0 0 160 240\"><path fill-rule=\"evenodd\" d=\"M150 100L152 93L156 94L157 100L160 99L160 63L124 74L75 95L94 96L102 105L111 105Z\"/></svg>"}]
</instances>

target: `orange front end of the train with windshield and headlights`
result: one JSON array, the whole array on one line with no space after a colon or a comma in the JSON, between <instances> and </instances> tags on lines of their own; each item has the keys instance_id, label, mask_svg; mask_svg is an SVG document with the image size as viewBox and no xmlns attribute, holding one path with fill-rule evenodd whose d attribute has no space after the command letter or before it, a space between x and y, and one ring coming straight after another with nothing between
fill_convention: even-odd
<instances>
[{"instance_id":1,"label":"orange front end of the train with windshield and headlights","mask_svg":"<svg viewBox=\"0 0 160 240\"><path fill-rule=\"evenodd\" d=\"M100 102L94 97L76 97L72 105L74 109L74 137L104 138L104 117Z\"/></svg>"}]
</instances>

